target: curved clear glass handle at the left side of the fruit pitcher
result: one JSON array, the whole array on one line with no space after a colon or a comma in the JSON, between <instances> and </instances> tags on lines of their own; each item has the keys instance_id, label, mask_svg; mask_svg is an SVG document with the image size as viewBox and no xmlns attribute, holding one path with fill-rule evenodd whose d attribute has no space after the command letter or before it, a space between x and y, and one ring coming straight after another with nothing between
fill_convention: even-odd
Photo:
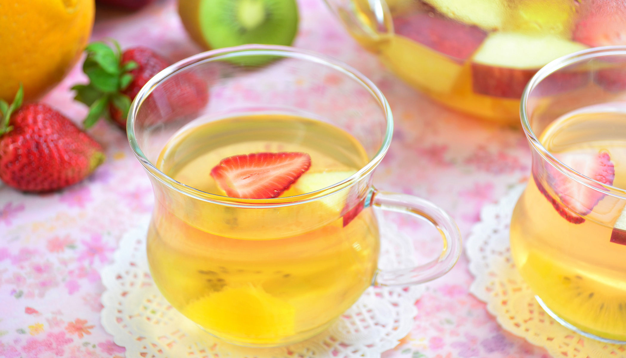
<instances>
[{"instance_id":1,"label":"curved clear glass handle at the left side of the fruit pitcher","mask_svg":"<svg viewBox=\"0 0 626 358\"><path fill-rule=\"evenodd\" d=\"M326 4L357 38L377 42L393 34L385 0L326 0Z\"/></svg>"}]
</instances>

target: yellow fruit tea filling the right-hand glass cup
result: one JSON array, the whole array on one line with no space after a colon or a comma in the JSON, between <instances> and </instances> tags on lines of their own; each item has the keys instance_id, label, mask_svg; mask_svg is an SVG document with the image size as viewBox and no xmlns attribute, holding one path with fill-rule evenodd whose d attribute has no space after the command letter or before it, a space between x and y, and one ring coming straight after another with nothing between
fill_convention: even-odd
<instances>
[{"instance_id":1,"label":"yellow fruit tea filling the right-hand glass cup","mask_svg":"<svg viewBox=\"0 0 626 358\"><path fill-rule=\"evenodd\" d=\"M623 103L564 115L540 142L581 174L626 188ZM515 265L558 317L588 334L626 341L626 200L582 186L553 167L544 174L533 168L513 212Z\"/></svg>"}]
</instances>

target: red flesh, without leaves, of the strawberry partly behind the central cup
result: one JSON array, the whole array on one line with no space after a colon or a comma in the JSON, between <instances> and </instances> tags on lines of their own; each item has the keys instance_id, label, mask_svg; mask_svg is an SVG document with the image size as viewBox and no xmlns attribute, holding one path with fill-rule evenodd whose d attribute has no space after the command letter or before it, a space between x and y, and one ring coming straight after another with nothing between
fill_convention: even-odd
<instances>
[{"instance_id":1,"label":"red flesh, without leaves, of the strawberry partly behind the central cup","mask_svg":"<svg viewBox=\"0 0 626 358\"><path fill-rule=\"evenodd\" d=\"M145 47L134 47L124 51L122 64L135 61L137 68L130 71L131 83L123 94L134 100L139 90L157 73L170 65L169 61ZM166 103L167 102L167 103ZM181 73L161 83L146 99L151 110L161 109L156 117L162 122L198 113L208 102L207 84L193 73ZM165 106L165 108L163 108ZM126 118L118 108L109 106L111 118L122 129L126 129Z\"/></svg>"}]
</instances>

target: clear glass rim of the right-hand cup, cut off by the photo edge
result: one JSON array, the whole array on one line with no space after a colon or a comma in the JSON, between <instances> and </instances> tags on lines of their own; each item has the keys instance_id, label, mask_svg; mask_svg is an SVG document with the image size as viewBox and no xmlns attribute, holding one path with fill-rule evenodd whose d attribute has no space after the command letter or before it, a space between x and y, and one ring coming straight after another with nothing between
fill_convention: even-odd
<instances>
[{"instance_id":1,"label":"clear glass rim of the right-hand cup, cut off by the photo edge","mask_svg":"<svg viewBox=\"0 0 626 358\"><path fill-rule=\"evenodd\" d=\"M620 189L615 186L603 184L602 182L584 176L583 174L580 174L579 172L575 171L574 169L568 167L563 162L558 160L557 157L555 157L550 152L550 150L546 149L546 147L544 147L543 144L541 144L541 142L539 141L538 137L536 136L530 125L530 118L528 118L528 112L526 111L528 99L530 98L530 93L533 92L533 90L539 83L541 83L542 80L544 80L549 75L552 75L552 73L555 73L558 70L562 70L563 68L573 65L575 63L580 63L582 61L591 60L593 58L617 55L626 56L626 46L601 46L588 48L586 50L581 50L570 53L569 55L562 56L543 66L526 84L524 92L521 95L520 117L521 127L526 134L526 139L528 139L528 142L530 142L531 146L541 155L541 157L543 157L543 159L550 162L550 164L556 167L558 171L562 172L562 174L569 177L570 179L573 179L574 181L577 181L580 184L589 187L590 189L602 191L603 194L615 196L620 199L626 199L625 189Z\"/></svg>"}]
</instances>

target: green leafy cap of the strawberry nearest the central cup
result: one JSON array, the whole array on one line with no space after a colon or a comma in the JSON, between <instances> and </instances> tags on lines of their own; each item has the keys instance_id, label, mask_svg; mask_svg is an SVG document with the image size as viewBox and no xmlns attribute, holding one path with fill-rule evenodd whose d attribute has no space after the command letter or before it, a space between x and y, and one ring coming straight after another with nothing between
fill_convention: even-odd
<instances>
[{"instance_id":1,"label":"green leafy cap of the strawberry nearest the central cup","mask_svg":"<svg viewBox=\"0 0 626 358\"><path fill-rule=\"evenodd\" d=\"M83 63L83 71L88 76L90 83L87 85L75 85L75 100L89 106L87 117L83 121L85 128L90 128L98 119L108 118L109 105L120 110L123 117L130 110L130 98L121 93L133 80L129 72L137 68L135 61L121 63L122 53L120 45L111 40L115 50L104 42L90 43L85 52L87 57Z\"/></svg>"}]
</instances>

